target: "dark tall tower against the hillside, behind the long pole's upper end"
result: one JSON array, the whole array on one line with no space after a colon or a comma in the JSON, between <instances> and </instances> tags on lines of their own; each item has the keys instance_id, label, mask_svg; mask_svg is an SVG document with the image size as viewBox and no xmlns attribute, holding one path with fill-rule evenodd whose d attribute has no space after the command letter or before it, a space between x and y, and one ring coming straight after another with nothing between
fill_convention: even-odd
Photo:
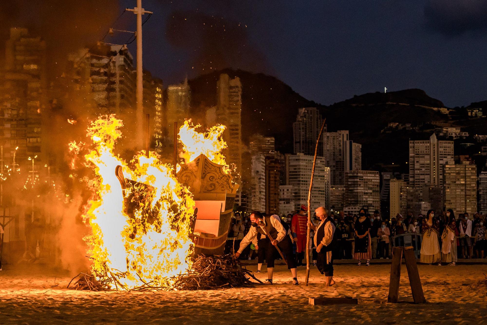
<instances>
[{"instance_id":1,"label":"dark tall tower against the hillside, behind the long pole's upper end","mask_svg":"<svg viewBox=\"0 0 487 325\"><path fill-rule=\"evenodd\" d=\"M296 122L293 123L294 153L315 155L316 142L323 118L316 107L305 107L298 110ZM323 130L323 133L326 129ZM318 156L323 156L323 134L318 145Z\"/></svg>"}]
</instances>

